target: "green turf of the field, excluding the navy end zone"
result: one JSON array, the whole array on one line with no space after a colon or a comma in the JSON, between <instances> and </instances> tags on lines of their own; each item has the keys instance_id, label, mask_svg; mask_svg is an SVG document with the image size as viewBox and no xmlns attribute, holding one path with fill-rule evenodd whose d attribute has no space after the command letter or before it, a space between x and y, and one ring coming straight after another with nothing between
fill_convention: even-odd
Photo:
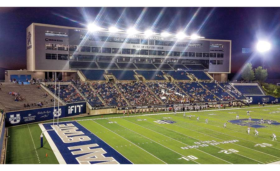
<instances>
[{"instance_id":1,"label":"green turf of the field, excluding the navy end zone","mask_svg":"<svg viewBox=\"0 0 280 171\"><path fill-rule=\"evenodd\" d=\"M237 114L239 119L249 118L248 110L252 119L280 122L280 106L189 112L186 118L183 112L125 117L114 114L76 118L76 122L134 164L268 164L280 161L280 142L272 141L272 132L277 138L280 135L280 125L259 124L267 127L257 128L259 136L254 136L254 127L248 135L247 126L228 122L235 120ZM164 124L158 120L174 123ZM226 128L223 128L225 122ZM40 134L37 123L9 128L6 164L57 164L45 139L44 147L40 148Z\"/></svg>"}]
</instances>

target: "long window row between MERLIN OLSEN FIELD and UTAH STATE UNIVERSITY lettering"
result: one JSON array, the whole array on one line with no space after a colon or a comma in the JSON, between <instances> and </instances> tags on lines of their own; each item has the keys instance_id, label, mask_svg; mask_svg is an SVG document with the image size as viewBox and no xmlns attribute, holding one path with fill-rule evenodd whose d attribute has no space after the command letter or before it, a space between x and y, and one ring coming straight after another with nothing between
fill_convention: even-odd
<instances>
[{"instance_id":1,"label":"long window row between MERLIN OLSEN FIELD and UTAH STATE UNIVERSITY lettering","mask_svg":"<svg viewBox=\"0 0 280 171\"><path fill-rule=\"evenodd\" d=\"M202 58L224 58L223 53L202 53L202 52L181 52L147 49L120 49L93 46L77 46L63 44L45 44L47 50L64 50L91 53L114 53L114 54L132 54L132 55L157 55L157 56L181 56L181 57L202 57Z\"/></svg>"}]
</instances>

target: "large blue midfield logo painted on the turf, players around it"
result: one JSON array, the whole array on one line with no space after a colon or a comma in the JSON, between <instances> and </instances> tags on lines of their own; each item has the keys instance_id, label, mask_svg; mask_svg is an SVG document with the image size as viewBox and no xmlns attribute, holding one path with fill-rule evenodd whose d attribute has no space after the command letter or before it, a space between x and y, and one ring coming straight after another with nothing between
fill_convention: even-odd
<instances>
[{"instance_id":1,"label":"large blue midfield logo painted on the turf, players around it","mask_svg":"<svg viewBox=\"0 0 280 171\"><path fill-rule=\"evenodd\" d=\"M251 119L251 122L248 122L248 119L235 119L235 120L230 120L228 122L240 126L250 126L253 128L264 128L267 126L264 126L263 123L260 122L260 119ZM268 123L269 119L264 120L264 123ZM271 120L272 125L280 125L279 122Z\"/></svg>"}]
</instances>

